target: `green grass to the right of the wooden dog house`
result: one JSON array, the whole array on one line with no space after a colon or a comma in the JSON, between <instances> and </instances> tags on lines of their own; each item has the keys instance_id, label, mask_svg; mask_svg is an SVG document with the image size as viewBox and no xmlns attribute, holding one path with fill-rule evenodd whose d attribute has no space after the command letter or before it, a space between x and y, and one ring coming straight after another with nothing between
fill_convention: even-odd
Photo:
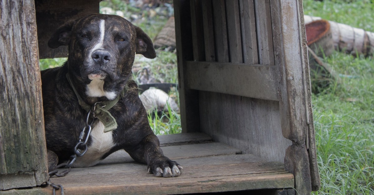
<instances>
[{"instance_id":1,"label":"green grass to the right of the wooden dog house","mask_svg":"<svg viewBox=\"0 0 374 195\"><path fill-rule=\"evenodd\" d=\"M304 13L374 31L373 0L304 0ZM334 52L324 59L341 77L312 95L321 189L374 194L374 59ZM312 83L313 85L313 83Z\"/></svg>"}]
</instances>

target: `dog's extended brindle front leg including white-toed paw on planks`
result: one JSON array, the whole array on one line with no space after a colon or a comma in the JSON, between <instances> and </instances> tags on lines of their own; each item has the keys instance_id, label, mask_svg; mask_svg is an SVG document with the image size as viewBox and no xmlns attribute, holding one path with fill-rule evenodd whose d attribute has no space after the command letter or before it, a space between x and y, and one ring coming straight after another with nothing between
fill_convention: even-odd
<instances>
[{"instance_id":1,"label":"dog's extended brindle front leg including white-toed paw on planks","mask_svg":"<svg viewBox=\"0 0 374 195\"><path fill-rule=\"evenodd\" d=\"M140 147L126 150L134 160L147 163L148 172L156 177L178 177L183 167L163 155L156 135L150 134L141 142Z\"/></svg>"}]
</instances>

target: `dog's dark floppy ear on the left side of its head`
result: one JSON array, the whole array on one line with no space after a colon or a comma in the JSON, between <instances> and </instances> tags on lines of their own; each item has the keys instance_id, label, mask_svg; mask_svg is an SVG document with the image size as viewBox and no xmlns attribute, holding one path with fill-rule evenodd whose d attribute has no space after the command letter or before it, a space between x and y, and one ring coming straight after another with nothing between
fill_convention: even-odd
<instances>
[{"instance_id":1,"label":"dog's dark floppy ear on the left side of its head","mask_svg":"<svg viewBox=\"0 0 374 195\"><path fill-rule=\"evenodd\" d=\"M70 43L71 29L77 20L70 20L59 27L52 37L48 41L48 46L52 49L56 49L62 45L68 45Z\"/></svg>"}]
</instances>

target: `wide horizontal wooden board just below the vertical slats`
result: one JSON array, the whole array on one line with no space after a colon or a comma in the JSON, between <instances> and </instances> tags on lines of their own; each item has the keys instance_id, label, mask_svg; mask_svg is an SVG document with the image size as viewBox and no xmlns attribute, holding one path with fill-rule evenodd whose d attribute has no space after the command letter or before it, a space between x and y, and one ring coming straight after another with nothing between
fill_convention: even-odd
<instances>
[{"instance_id":1,"label":"wide horizontal wooden board just below the vertical slats","mask_svg":"<svg viewBox=\"0 0 374 195\"><path fill-rule=\"evenodd\" d=\"M273 66L186 62L188 89L279 100Z\"/></svg>"}]
</instances>

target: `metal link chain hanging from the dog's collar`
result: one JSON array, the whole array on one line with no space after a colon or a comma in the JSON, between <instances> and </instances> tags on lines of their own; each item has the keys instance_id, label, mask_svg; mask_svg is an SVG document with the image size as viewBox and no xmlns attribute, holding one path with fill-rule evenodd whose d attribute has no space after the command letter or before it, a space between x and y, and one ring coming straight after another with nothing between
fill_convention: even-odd
<instances>
[{"instance_id":1,"label":"metal link chain hanging from the dog's collar","mask_svg":"<svg viewBox=\"0 0 374 195\"><path fill-rule=\"evenodd\" d=\"M96 110L96 105L98 103L101 103L101 102L96 102L87 113L86 126L83 127L83 130L80 132L79 141L78 141L77 145L74 147L74 154L70 156L70 159L67 161L67 163L61 163L61 164L56 166L55 170L49 171L49 173L48 173L49 177L52 177L52 176L64 177L64 176L66 176L71 171L71 165L77 160L77 157L82 157L84 154L86 154L87 149L88 149L87 142L88 142L88 139L89 139L90 134L91 134L92 124L94 122L94 120L92 120L91 124L89 124L89 119L90 118L96 118L94 112ZM88 130L87 133L86 133L86 130ZM86 135L86 137L85 137L85 135ZM85 147L83 152L82 152L81 149L78 149L79 146L84 146ZM68 168L68 169L63 170L60 173L58 173L57 169L61 168L61 167L65 167L65 168ZM64 195L64 188L62 187L62 185L51 183L50 179L48 179L48 181L46 183L47 183L47 185L52 186L53 195L55 195L56 190L59 190L59 189L61 189L61 195Z\"/></svg>"}]
</instances>

